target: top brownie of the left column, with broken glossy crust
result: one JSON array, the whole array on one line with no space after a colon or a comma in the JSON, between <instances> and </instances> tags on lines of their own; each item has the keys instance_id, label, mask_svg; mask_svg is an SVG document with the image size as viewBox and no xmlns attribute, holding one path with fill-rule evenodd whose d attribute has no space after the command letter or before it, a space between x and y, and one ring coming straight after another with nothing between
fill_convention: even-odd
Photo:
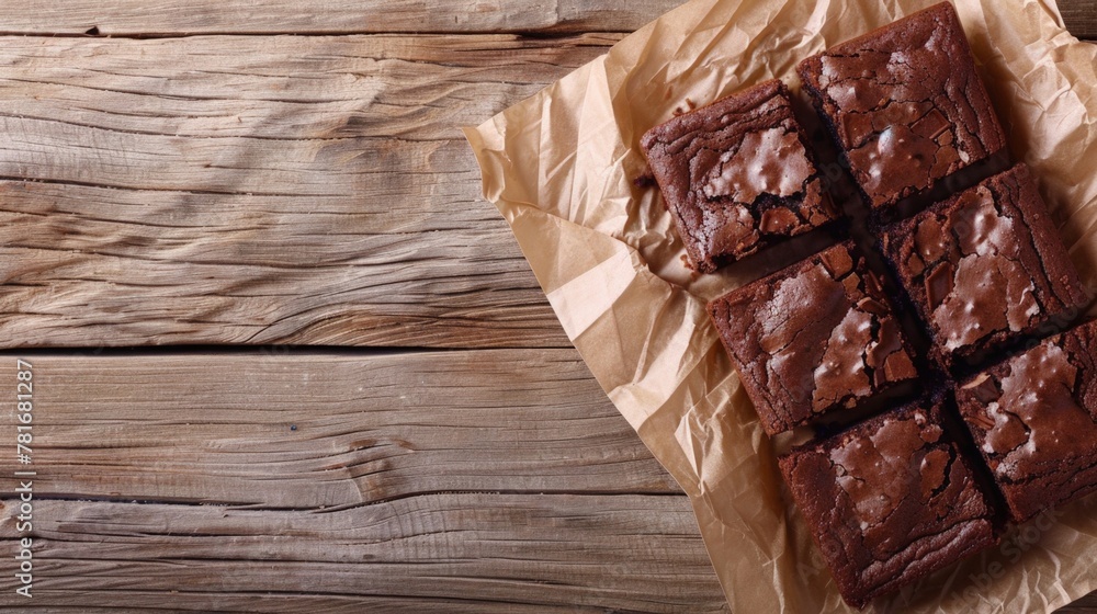
<instances>
[{"instance_id":1,"label":"top brownie of the left column, with broken glossy crust","mask_svg":"<svg viewBox=\"0 0 1097 614\"><path fill-rule=\"evenodd\" d=\"M640 144L701 273L836 218L779 80L679 115Z\"/></svg>"}]
</instances>

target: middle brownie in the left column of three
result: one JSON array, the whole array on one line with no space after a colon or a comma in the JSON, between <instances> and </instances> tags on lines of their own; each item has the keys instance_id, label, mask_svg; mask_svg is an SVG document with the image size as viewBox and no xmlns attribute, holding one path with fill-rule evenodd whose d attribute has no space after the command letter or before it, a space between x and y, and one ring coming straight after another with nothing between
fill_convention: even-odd
<instances>
[{"instance_id":1,"label":"middle brownie in the left column of three","mask_svg":"<svg viewBox=\"0 0 1097 614\"><path fill-rule=\"evenodd\" d=\"M918 375L851 241L714 299L709 314L770 435Z\"/></svg>"}]
</instances>

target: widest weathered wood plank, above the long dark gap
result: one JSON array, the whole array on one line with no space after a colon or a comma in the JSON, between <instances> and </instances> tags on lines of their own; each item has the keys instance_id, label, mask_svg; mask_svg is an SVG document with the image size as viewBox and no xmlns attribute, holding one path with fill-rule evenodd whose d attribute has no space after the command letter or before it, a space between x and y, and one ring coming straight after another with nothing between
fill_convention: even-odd
<instances>
[{"instance_id":1,"label":"widest weathered wood plank, above the long dark gap","mask_svg":"<svg viewBox=\"0 0 1097 614\"><path fill-rule=\"evenodd\" d=\"M0 343L566 346L457 125L618 38L3 38Z\"/></svg>"}]
</instances>

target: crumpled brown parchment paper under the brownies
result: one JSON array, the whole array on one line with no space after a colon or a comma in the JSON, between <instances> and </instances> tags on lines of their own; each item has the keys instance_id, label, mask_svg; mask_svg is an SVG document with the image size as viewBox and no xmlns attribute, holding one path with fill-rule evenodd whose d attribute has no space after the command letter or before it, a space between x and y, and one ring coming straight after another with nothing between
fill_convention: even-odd
<instances>
[{"instance_id":1,"label":"crumpled brown parchment paper under the brownies","mask_svg":"<svg viewBox=\"0 0 1097 614\"><path fill-rule=\"evenodd\" d=\"M465 135L564 330L689 494L735 612L845 612L789 505L768 439L704 304L750 272L691 277L656 196L633 180L649 127L779 77L932 0L693 0ZM1029 163L1097 293L1097 45L1053 0L957 0L1015 159ZM1097 497L874 612L1050 612L1097 589Z\"/></svg>"}]
</instances>

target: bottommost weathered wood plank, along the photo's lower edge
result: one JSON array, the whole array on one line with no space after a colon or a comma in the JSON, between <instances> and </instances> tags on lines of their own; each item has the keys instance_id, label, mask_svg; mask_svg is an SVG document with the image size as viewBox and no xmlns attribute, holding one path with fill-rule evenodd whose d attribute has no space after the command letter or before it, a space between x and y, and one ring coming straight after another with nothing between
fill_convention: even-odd
<instances>
[{"instance_id":1,"label":"bottommost weathered wood plank, along the photo's lower edge","mask_svg":"<svg viewBox=\"0 0 1097 614\"><path fill-rule=\"evenodd\" d=\"M685 497L449 493L326 513L41 500L34 533L33 601L3 573L4 610L726 611Z\"/></svg>"}]
</instances>

